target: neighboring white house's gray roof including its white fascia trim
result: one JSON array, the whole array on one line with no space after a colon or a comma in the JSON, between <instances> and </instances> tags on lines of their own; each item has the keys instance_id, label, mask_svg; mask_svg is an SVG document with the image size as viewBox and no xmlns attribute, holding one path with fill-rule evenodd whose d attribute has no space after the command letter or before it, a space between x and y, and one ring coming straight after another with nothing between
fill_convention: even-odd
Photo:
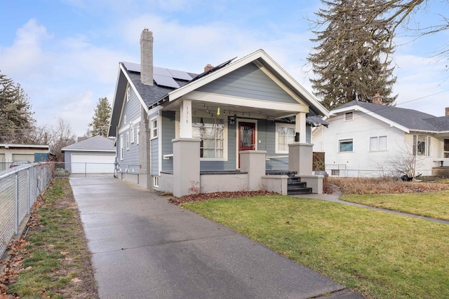
<instances>
[{"instance_id":1,"label":"neighboring white house's gray roof including its white fascia trim","mask_svg":"<svg viewBox=\"0 0 449 299\"><path fill-rule=\"evenodd\" d=\"M413 109L404 109L368 102L352 101L330 111L330 114L354 110L367 113L374 118L383 120L406 132L409 132L410 130L423 132L449 131L449 116L436 117Z\"/></svg>"}]
</instances>

